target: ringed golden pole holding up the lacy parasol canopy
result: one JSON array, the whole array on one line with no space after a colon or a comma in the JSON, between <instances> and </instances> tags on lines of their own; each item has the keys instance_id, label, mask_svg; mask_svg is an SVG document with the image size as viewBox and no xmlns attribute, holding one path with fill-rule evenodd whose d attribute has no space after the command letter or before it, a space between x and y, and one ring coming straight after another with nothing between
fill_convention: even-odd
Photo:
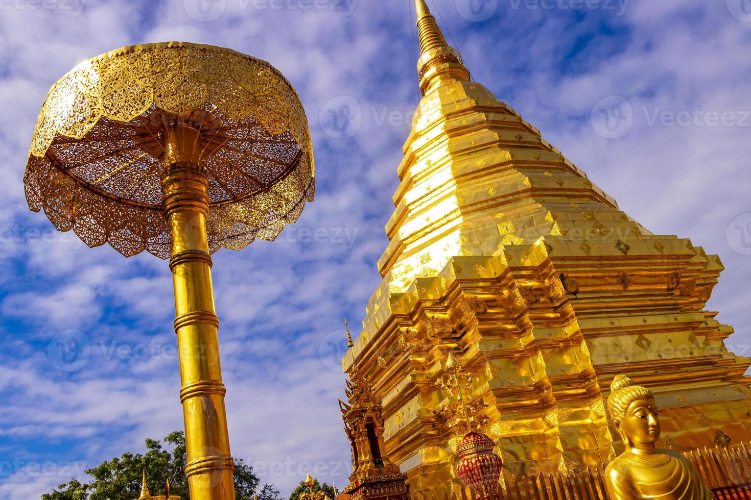
<instances>
[{"instance_id":1,"label":"ringed golden pole holding up the lacy parasol canopy","mask_svg":"<svg viewBox=\"0 0 751 500\"><path fill-rule=\"evenodd\" d=\"M209 184L199 166L201 134L183 124L168 128L166 134L167 176L162 192L171 236L170 269L187 447L185 476L192 500L234 499L234 462L207 238Z\"/></svg>"}]
</instances>

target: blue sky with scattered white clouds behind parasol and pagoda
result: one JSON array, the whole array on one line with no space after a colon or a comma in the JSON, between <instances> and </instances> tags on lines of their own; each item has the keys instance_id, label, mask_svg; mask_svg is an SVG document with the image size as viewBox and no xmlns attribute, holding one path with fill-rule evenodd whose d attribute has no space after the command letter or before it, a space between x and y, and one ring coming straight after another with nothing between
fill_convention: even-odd
<instances>
[{"instance_id":1,"label":"blue sky with scattered white clouds behind parasol and pagoda","mask_svg":"<svg viewBox=\"0 0 751 500\"><path fill-rule=\"evenodd\" d=\"M307 472L346 483L336 358L342 318L359 325L379 282L420 97L412 0L198 1L0 0L0 499L38 498L182 428L167 263L54 232L28 210L22 180L56 79L84 58L164 40L264 58L300 92L315 202L276 242L214 259L229 427L233 453L282 493ZM727 270L710 308L737 330L728 346L747 352L751 1L428 3L473 79L623 210L719 254ZM345 104L351 119L334 123ZM59 342L79 357L68 363Z\"/></svg>"}]
</instances>

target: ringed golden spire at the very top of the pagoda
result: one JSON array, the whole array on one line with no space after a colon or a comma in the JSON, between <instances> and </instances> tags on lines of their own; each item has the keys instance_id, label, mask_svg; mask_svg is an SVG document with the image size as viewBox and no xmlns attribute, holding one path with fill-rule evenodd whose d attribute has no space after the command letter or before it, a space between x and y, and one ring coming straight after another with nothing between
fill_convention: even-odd
<instances>
[{"instance_id":1,"label":"ringed golden spire at the very top of the pagoda","mask_svg":"<svg viewBox=\"0 0 751 500\"><path fill-rule=\"evenodd\" d=\"M425 0L415 0L415 10L418 15L418 77L422 94L448 79L468 80L469 70L464 66L461 54L448 45Z\"/></svg>"}]
</instances>

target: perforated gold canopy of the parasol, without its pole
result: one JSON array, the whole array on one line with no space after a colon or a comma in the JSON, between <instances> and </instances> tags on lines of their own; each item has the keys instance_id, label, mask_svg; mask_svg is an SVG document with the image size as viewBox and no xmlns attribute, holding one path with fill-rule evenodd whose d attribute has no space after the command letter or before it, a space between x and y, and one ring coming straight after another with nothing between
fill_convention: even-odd
<instances>
[{"instance_id":1,"label":"perforated gold canopy of the parasol, without its pole","mask_svg":"<svg viewBox=\"0 0 751 500\"><path fill-rule=\"evenodd\" d=\"M201 132L211 252L273 240L312 201L307 119L285 77L231 49L169 42L107 52L53 85L26 164L29 207L90 247L168 258L162 131L174 124Z\"/></svg>"}]
</instances>

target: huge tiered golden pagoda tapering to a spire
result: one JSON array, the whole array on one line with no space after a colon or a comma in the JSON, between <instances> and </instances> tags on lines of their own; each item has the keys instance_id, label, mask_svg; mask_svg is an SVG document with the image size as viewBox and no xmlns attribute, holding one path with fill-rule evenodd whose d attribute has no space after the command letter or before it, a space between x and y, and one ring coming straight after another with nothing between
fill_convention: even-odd
<instances>
[{"instance_id":1,"label":"huge tiered golden pagoda tapering to a spire","mask_svg":"<svg viewBox=\"0 0 751 500\"><path fill-rule=\"evenodd\" d=\"M382 282L342 360L382 403L383 442L417 499L459 495L467 431L442 388L453 354L472 430L519 475L620 453L604 398L623 373L661 410L660 448L751 439L749 358L704 309L722 263L654 235L483 85L415 0L424 97L403 147ZM354 367L352 366L354 364Z\"/></svg>"}]
</instances>

